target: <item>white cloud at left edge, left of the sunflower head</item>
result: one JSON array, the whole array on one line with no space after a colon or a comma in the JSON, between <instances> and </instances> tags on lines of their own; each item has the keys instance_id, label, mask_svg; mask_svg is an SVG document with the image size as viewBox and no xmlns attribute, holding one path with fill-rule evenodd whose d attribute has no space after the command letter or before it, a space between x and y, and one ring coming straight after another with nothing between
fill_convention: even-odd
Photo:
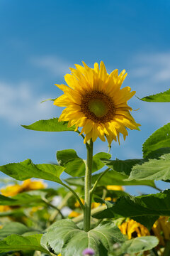
<instances>
[{"instance_id":1,"label":"white cloud at left edge, left of the sunflower head","mask_svg":"<svg viewBox=\"0 0 170 256\"><path fill-rule=\"evenodd\" d=\"M47 95L35 96L28 82L10 85L0 82L0 118L10 124L23 124L52 117L52 102L40 103Z\"/></svg>"}]
</instances>

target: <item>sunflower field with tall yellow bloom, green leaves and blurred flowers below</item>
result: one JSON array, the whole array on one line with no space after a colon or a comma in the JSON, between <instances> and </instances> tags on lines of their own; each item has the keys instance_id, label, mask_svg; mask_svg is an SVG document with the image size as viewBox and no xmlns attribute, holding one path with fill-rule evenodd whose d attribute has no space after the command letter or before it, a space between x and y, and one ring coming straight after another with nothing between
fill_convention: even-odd
<instances>
[{"instance_id":1,"label":"sunflower field with tall yellow bloom, green leaves and blurred flowers below","mask_svg":"<svg viewBox=\"0 0 170 256\"><path fill-rule=\"evenodd\" d=\"M56 163L26 159L0 166L8 175L1 178L0 256L169 256L170 189L155 181L170 182L170 123L141 145L142 159L117 159L110 154L113 140L128 139L129 129L140 136L142 125L128 105L135 92L123 87L125 70L108 74L103 62L70 70L67 85L57 85L63 94L50 99L65 107L60 117L23 128L77 133L86 159L65 149L57 151ZM170 102L170 90L136 100ZM107 140L108 152L94 154L97 138ZM47 181L57 185L48 188ZM157 193L125 191L136 185Z\"/></svg>"}]
</instances>

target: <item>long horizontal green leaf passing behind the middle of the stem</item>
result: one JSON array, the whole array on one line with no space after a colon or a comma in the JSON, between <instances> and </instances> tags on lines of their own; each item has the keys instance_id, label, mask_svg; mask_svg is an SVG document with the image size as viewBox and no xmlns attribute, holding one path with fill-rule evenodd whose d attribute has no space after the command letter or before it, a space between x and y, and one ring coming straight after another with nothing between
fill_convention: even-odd
<instances>
[{"instance_id":1,"label":"long horizontal green leaf passing behind the middle of the stem","mask_svg":"<svg viewBox=\"0 0 170 256\"><path fill-rule=\"evenodd\" d=\"M98 179L101 174L95 174L92 176L92 183ZM117 171L108 171L101 180L98 182L98 186L108 186L108 185L120 185L120 186L135 186L135 185L145 185L152 186L155 188L154 181L127 181L128 176L125 174L120 174ZM69 185L73 186L84 186L84 177L81 178L67 178L66 181Z\"/></svg>"}]
</instances>

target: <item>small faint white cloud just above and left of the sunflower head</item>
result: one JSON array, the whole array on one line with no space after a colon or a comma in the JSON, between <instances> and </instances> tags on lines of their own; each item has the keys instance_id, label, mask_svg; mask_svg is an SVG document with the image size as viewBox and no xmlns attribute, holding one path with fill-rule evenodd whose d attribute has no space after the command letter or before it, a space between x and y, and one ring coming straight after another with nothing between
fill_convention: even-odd
<instances>
[{"instance_id":1,"label":"small faint white cloud just above and left of the sunflower head","mask_svg":"<svg viewBox=\"0 0 170 256\"><path fill-rule=\"evenodd\" d=\"M34 57L31 59L33 65L36 65L39 68L44 68L50 73L54 75L65 75L69 72L69 67L72 64L68 63L67 61L61 60L60 58L53 57L51 55L41 56L41 57Z\"/></svg>"}]
</instances>

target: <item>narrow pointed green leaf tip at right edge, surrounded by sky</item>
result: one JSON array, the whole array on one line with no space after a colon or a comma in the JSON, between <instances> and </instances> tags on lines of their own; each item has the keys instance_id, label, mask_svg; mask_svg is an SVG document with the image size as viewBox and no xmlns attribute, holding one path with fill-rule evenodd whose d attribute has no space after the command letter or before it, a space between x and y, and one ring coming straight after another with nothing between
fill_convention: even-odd
<instances>
[{"instance_id":1,"label":"narrow pointed green leaf tip at right edge, surrounded by sky","mask_svg":"<svg viewBox=\"0 0 170 256\"><path fill-rule=\"evenodd\" d=\"M146 102L170 102L170 89L166 90L165 92L157 93L156 95L142 97L140 100Z\"/></svg>"}]
</instances>

